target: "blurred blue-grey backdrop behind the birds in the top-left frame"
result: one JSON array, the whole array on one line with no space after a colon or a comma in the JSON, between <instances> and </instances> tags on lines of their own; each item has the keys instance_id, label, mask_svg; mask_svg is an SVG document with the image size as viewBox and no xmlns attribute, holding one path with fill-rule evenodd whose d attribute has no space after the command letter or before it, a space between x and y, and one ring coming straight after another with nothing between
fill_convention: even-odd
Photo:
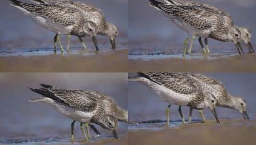
<instances>
[{"instance_id":1,"label":"blurred blue-grey backdrop behind the birds in the top-left frame","mask_svg":"<svg viewBox=\"0 0 256 145\"><path fill-rule=\"evenodd\" d=\"M31 3L30 0L20 0ZM72 0L81 1L100 8L106 20L114 23L119 31L116 37L116 49L127 49L128 45L128 0ZM53 38L55 33L48 31L43 26L35 23L29 16L15 7L9 0L0 0L0 55L15 55L20 52L51 51L53 52ZM62 44L66 49L67 35L62 35ZM71 50L82 48L77 37L71 37ZM107 37L98 35L100 50L111 50L111 43ZM94 50L94 45L89 38L83 38L88 48Z\"/></svg>"}]
</instances>

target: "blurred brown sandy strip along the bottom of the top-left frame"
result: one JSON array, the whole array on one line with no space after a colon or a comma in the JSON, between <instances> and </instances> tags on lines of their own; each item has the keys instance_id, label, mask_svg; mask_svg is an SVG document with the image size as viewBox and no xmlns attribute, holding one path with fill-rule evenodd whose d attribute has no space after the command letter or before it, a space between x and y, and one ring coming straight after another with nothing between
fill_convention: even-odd
<instances>
[{"instance_id":1,"label":"blurred brown sandy strip along the bottom of the top-left frame","mask_svg":"<svg viewBox=\"0 0 256 145\"><path fill-rule=\"evenodd\" d=\"M127 53L0 57L0 72L127 72Z\"/></svg>"}]
</instances>

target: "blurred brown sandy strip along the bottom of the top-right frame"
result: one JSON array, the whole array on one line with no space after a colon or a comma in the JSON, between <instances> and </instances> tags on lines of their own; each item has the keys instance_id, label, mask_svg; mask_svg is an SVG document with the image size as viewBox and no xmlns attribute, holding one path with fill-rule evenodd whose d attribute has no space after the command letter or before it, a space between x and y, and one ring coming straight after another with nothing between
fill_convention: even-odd
<instances>
[{"instance_id":1,"label":"blurred brown sandy strip along the bottom of the top-right frame","mask_svg":"<svg viewBox=\"0 0 256 145\"><path fill-rule=\"evenodd\" d=\"M256 54L236 55L216 60L178 58L129 60L129 72L256 72Z\"/></svg>"}]
</instances>

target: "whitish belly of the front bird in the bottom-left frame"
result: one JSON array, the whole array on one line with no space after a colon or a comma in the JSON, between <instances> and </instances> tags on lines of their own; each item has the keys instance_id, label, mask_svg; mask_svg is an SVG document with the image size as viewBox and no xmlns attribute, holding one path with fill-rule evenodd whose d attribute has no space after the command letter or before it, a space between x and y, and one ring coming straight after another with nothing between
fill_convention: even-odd
<instances>
[{"instance_id":1,"label":"whitish belly of the front bird in the bottom-left frame","mask_svg":"<svg viewBox=\"0 0 256 145\"><path fill-rule=\"evenodd\" d=\"M76 110L72 107L60 103L55 103L53 105L58 112L78 122L89 122L91 117L93 116L93 112L86 113L84 111Z\"/></svg>"}]
</instances>

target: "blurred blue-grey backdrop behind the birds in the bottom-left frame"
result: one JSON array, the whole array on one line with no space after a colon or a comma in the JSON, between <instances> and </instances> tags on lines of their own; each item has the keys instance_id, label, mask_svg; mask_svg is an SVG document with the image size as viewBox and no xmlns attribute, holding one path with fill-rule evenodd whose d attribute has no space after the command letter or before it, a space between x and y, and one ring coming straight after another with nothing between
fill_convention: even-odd
<instances>
[{"instance_id":1,"label":"blurred blue-grey backdrop behind the birds in the bottom-left frame","mask_svg":"<svg viewBox=\"0 0 256 145\"><path fill-rule=\"evenodd\" d=\"M72 120L51 106L29 103L40 94L29 91L40 83L63 89L89 89L111 96L127 110L127 73L0 73L0 142L13 143L37 139L67 138L70 142ZM108 130L95 125L101 139L111 137ZM90 132L95 135L93 131ZM75 124L75 138L82 138L79 123ZM127 135L127 124L120 123L118 135ZM70 144L70 143L69 143Z\"/></svg>"}]
</instances>

